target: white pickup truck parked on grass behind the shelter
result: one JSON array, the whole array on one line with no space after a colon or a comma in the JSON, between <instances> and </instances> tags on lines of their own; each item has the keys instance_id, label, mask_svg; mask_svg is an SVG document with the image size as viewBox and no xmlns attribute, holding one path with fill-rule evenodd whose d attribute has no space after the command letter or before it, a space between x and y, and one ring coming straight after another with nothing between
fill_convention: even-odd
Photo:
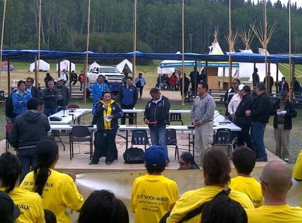
<instances>
[{"instance_id":1,"label":"white pickup truck parked on grass behind the shelter","mask_svg":"<svg viewBox=\"0 0 302 223\"><path fill-rule=\"evenodd\" d=\"M113 84L115 81L118 84L121 84L121 79L124 76L115 67L97 66L97 67L93 67L92 70L87 72L87 77L88 77L89 83L90 84L95 83L98 75L100 75L100 74L106 78L109 85Z\"/></svg>"}]
</instances>

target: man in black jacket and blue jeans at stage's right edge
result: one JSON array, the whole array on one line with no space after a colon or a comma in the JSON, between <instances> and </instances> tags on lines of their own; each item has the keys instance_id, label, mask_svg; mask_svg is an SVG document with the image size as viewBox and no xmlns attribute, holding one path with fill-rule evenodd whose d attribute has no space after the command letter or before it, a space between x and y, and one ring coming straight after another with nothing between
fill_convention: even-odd
<instances>
[{"instance_id":1,"label":"man in black jacket and blue jeans at stage's right edge","mask_svg":"<svg viewBox=\"0 0 302 223\"><path fill-rule=\"evenodd\" d=\"M267 155L264 147L264 129L268 123L270 114L269 97L265 93L265 85L257 83L257 96L252 102L251 109L245 111L247 117L251 117L252 126L252 147L256 152L257 162L267 162Z\"/></svg>"}]
</instances>

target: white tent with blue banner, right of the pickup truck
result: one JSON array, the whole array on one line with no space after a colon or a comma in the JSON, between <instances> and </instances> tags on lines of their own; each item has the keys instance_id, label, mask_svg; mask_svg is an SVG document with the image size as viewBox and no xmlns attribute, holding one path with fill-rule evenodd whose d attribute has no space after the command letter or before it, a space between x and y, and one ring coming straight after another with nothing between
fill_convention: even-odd
<instances>
[{"instance_id":1,"label":"white tent with blue banner, right of the pickup truck","mask_svg":"<svg viewBox=\"0 0 302 223\"><path fill-rule=\"evenodd\" d=\"M176 52L176 54L181 54L181 52ZM184 60L184 66L195 66L195 60ZM198 65L198 61L197 61ZM182 60L163 60L160 62L159 66L157 67L157 73L173 73L175 71L175 67L180 68L182 66Z\"/></svg>"}]
</instances>

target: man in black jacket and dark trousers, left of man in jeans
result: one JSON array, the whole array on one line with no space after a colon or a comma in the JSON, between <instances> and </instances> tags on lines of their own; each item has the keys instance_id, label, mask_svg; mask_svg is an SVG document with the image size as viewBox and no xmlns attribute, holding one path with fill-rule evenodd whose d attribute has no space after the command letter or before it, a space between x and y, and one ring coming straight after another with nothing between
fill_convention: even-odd
<instances>
[{"instance_id":1,"label":"man in black jacket and dark trousers, left of man in jeans","mask_svg":"<svg viewBox=\"0 0 302 223\"><path fill-rule=\"evenodd\" d=\"M252 104L250 87L245 85L241 90L241 95L241 101L235 112L236 124L241 128L241 131L238 133L237 146L244 146L245 142L247 147L252 149L252 144L249 136L251 119L250 116L247 117L245 115L245 111L250 110Z\"/></svg>"}]
</instances>

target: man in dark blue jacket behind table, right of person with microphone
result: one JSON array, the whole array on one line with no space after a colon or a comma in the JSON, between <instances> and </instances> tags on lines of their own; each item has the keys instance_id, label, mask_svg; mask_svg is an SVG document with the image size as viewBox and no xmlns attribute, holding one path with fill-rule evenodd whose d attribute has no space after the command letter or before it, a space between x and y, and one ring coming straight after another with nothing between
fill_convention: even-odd
<instances>
[{"instance_id":1,"label":"man in dark blue jacket behind table, right of person with microphone","mask_svg":"<svg viewBox=\"0 0 302 223\"><path fill-rule=\"evenodd\" d=\"M134 85L132 85L132 77L126 77L126 83L120 88L120 108L121 109L133 109L137 98L137 90ZM129 125L134 124L134 113L127 113L129 116ZM126 114L123 113L121 118L121 124L124 125L126 122Z\"/></svg>"}]
</instances>

